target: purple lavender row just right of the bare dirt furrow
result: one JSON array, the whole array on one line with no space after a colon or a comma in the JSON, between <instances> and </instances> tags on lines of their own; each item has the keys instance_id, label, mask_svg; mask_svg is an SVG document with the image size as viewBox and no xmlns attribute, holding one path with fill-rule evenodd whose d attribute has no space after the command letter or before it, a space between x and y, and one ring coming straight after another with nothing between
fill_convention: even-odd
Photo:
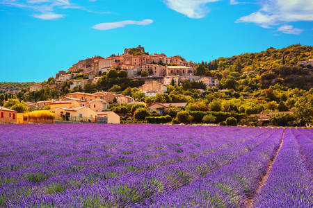
<instances>
[{"instance_id":1,"label":"purple lavender row just right of the bare dirt furrow","mask_svg":"<svg viewBox=\"0 0 313 208\"><path fill-rule=\"evenodd\" d=\"M312 207L313 177L290 129L253 207Z\"/></svg>"}]
</instances>

